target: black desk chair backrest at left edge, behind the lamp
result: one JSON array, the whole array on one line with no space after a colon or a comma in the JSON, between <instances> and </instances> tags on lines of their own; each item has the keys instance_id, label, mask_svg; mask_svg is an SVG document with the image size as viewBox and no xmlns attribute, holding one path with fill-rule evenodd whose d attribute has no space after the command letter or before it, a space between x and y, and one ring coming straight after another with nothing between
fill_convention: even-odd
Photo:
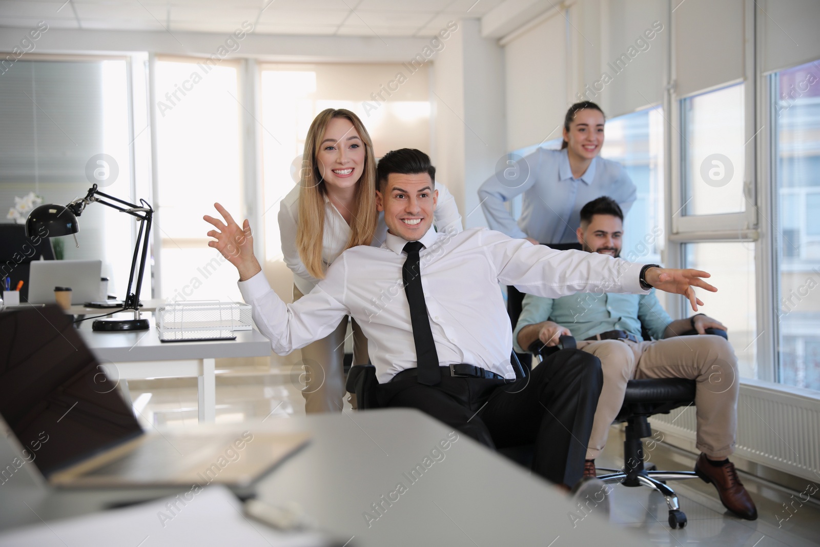
<instances>
[{"instance_id":1,"label":"black desk chair backrest at left edge, behind the lamp","mask_svg":"<svg viewBox=\"0 0 820 547\"><path fill-rule=\"evenodd\" d=\"M25 237L24 225L0 224L0 280L11 277L12 290L23 281L21 302L29 299L29 264L41 259L54 260L51 239L29 239Z\"/></svg>"}]
</instances>

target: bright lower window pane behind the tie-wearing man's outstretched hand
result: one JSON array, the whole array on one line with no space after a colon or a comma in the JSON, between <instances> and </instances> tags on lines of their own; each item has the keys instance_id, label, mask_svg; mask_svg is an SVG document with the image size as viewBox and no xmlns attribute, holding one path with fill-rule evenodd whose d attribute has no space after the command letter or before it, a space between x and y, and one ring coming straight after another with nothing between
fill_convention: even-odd
<instances>
[{"instance_id":1,"label":"bright lower window pane behind the tie-wearing man's outstretched hand","mask_svg":"<svg viewBox=\"0 0 820 547\"><path fill-rule=\"evenodd\" d=\"M699 312L727 326L740 376L757 378L754 243L688 243L684 245L684 256L684 267L708 271L712 274L709 283L717 287L717 293L698 289L700 299L706 304ZM695 313L689 310L690 315Z\"/></svg>"}]
</instances>

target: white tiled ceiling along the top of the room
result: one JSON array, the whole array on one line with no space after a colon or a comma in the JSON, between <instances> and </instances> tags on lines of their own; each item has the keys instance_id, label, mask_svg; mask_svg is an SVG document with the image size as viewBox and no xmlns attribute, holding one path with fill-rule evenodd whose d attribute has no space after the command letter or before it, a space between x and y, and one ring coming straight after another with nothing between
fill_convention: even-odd
<instances>
[{"instance_id":1,"label":"white tiled ceiling along the top of the room","mask_svg":"<svg viewBox=\"0 0 820 547\"><path fill-rule=\"evenodd\" d=\"M503 0L57 0L0 1L0 26L259 34L432 36Z\"/></svg>"}]
</instances>

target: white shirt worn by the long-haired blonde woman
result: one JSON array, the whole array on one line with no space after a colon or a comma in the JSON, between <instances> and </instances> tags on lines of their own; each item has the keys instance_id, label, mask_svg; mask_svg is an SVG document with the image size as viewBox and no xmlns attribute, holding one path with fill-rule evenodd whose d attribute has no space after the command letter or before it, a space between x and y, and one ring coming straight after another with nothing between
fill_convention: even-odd
<instances>
[{"instance_id":1,"label":"white shirt worn by the long-haired blonde woman","mask_svg":"<svg viewBox=\"0 0 820 547\"><path fill-rule=\"evenodd\" d=\"M449 193L446 186L440 182L435 183L435 189L439 190L439 198L436 202L434 221L435 226L441 232L451 230L461 231L461 215L458 214L458 206L453 194ZM299 219L299 185L295 185L288 195L282 199L279 209L279 232L282 239L282 254L285 264L290 271L294 272L294 285L302 294L312 291L319 282L311 276L299 257L296 248L296 227ZM376 232L373 234L371 245L380 247L385 242L387 235L387 225L385 224L384 213L379 213L379 220L376 223ZM335 261L339 254L344 251L350 239L350 226L344 220L341 213L336 209L330 199L325 196L325 234L322 238L321 259L326 266Z\"/></svg>"}]
</instances>

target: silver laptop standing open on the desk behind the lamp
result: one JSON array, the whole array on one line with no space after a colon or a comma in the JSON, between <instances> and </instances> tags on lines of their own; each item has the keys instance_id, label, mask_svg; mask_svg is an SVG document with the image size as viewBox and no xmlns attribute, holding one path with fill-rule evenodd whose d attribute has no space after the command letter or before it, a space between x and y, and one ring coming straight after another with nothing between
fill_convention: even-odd
<instances>
[{"instance_id":1,"label":"silver laptop standing open on the desk behind the lamp","mask_svg":"<svg viewBox=\"0 0 820 547\"><path fill-rule=\"evenodd\" d=\"M54 287L71 287L71 303L100 299L102 260L34 260L29 271L29 303L52 304Z\"/></svg>"}]
</instances>

